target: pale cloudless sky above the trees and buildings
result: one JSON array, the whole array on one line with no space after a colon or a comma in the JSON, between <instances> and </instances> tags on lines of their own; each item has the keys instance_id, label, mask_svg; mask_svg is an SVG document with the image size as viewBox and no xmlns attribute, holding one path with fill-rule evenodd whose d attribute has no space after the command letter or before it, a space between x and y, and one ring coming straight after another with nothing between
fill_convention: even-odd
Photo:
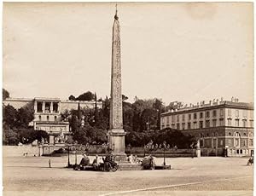
<instances>
[{"instance_id":1,"label":"pale cloudless sky above the trees and buildings","mask_svg":"<svg viewBox=\"0 0 256 196\"><path fill-rule=\"evenodd\" d=\"M130 101L253 101L253 3L118 9ZM114 12L114 3L3 3L3 88L11 97L109 97Z\"/></svg>"}]
</instances>

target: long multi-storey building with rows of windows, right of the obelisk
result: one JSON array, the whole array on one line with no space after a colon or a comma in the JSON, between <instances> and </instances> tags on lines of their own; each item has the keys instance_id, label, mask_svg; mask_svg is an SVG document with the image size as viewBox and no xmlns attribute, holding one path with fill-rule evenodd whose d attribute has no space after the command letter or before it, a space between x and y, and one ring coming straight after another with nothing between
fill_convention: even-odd
<instances>
[{"instance_id":1,"label":"long multi-storey building with rows of windows, right of the obelisk","mask_svg":"<svg viewBox=\"0 0 256 196\"><path fill-rule=\"evenodd\" d=\"M161 129L181 130L200 142L202 156L253 154L253 103L202 101L160 115Z\"/></svg>"}]
</instances>

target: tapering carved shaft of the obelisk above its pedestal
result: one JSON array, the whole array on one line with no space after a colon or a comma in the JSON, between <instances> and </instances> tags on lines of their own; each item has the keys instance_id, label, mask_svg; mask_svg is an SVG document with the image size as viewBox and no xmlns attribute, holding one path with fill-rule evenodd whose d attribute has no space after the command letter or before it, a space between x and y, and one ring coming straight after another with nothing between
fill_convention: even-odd
<instances>
[{"instance_id":1,"label":"tapering carved shaft of the obelisk above its pedestal","mask_svg":"<svg viewBox=\"0 0 256 196\"><path fill-rule=\"evenodd\" d=\"M110 130L123 129L122 85L121 85L121 51L120 26L117 13L113 21L112 37L112 71L111 71L111 102Z\"/></svg>"}]
</instances>

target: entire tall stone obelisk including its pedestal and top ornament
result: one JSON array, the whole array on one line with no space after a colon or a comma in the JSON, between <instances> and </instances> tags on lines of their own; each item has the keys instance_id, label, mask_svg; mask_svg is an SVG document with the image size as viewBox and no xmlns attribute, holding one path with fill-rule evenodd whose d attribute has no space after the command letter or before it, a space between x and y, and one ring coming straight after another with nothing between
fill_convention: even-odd
<instances>
[{"instance_id":1,"label":"entire tall stone obelisk including its pedestal and top ornament","mask_svg":"<svg viewBox=\"0 0 256 196\"><path fill-rule=\"evenodd\" d=\"M122 110L120 26L116 10L113 20L110 122L108 135L109 147L112 149L115 160L119 162L126 160L125 130L123 130Z\"/></svg>"}]
</instances>

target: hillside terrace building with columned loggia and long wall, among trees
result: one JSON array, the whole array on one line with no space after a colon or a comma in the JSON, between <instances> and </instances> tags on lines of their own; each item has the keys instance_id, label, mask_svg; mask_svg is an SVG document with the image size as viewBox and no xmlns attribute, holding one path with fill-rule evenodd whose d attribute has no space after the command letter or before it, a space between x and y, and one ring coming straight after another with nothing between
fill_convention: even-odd
<instances>
[{"instance_id":1,"label":"hillside terrace building with columned loggia and long wall, among trees","mask_svg":"<svg viewBox=\"0 0 256 196\"><path fill-rule=\"evenodd\" d=\"M44 130L49 134L49 143L65 141L70 135L68 121L61 119L61 113L80 108L94 108L96 101L61 101L59 98L8 98L3 101L4 106L33 107L34 119L30 123L34 130ZM97 101L97 107L102 108L102 101Z\"/></svg>"}]
</instances>

